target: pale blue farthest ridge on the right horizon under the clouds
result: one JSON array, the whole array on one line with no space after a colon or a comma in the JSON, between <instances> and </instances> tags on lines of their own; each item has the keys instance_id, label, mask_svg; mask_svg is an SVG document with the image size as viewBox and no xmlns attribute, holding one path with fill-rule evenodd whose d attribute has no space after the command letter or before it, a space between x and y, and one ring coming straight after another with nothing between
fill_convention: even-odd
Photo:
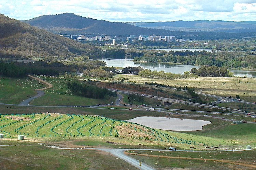
<instances>
[{"instance_id":1,"label":"pale blue farthest ridge on the right horizon under the clouds","mask_svg":"<svg viewBox=\"0 0 256 170\"><path fill-rule=\"evenodd\" d=\"M214 32L248 32L256 31L256 21L172 21L172 22L127 22L133 26L172 31L214 31Z\"/></svg>"}]
</instances>

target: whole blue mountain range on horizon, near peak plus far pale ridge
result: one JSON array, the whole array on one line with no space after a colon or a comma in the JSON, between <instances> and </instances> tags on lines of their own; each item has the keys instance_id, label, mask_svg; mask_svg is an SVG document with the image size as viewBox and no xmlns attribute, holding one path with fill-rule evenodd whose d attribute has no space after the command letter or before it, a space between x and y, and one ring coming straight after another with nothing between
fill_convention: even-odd
<instances>
[{"instance_id":1,"label":"whole blue mountain range on horizon, near peak plus far pale ridge","mask_svg":"<svg viewBox=\"0 0 256 170\"><path fill-rule=\"evenodd\" d=\"M255 37L256 27L255 21L245 21L243 23L226 22L226 21L175 21L175 22L136 22L122 23L109 22L105 20L97 20L92 18L81 17L73 13L63 13L57 15L43 15L37 18L23 21L40 29L45 29L55 34L68 35L110 35L110 36L126 36L129 35L161 35L175 36L183 39L229 39ZM226 23L226 26L225 26ZM233 25L232 25L233 24ZM237 25L237 27L235 26ZM223 27L221 27L223 26ZM242 27L243 26L243 27ZM250 27L247 27L250 26ZM148 28L146 28L148 27ZM173 28L171 31L168 29ZM210 31L215 28L215 31ZM221 32L232 28L238 34ZM241 29L240 29L241 28ZM248 28L248 29L245 29ZM235 29L237 29L235 31ZM182 31L186 30L186 31ZM208 32L205 32L207 31ZM241 32L241 33L239 33Z\"/></svg>"}]
</instances>

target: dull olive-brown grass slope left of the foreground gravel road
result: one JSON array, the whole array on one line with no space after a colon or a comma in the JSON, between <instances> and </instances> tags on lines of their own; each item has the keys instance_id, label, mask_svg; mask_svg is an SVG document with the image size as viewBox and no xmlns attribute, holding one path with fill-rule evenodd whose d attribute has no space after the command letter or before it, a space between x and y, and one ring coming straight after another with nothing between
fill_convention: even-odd
<instances>
[{"instance_id":1,"label":"dull olive-brown grass slope left of the foreground gravel road","mask_svg":"<svg viewBox=\"0 0 256 170\"><path fill-rule=\"evenodd\" d=\"M0 169L136 169L122 159L95 150L60 150L37 143L2 141Z\"/></svg>"}]
</instances>

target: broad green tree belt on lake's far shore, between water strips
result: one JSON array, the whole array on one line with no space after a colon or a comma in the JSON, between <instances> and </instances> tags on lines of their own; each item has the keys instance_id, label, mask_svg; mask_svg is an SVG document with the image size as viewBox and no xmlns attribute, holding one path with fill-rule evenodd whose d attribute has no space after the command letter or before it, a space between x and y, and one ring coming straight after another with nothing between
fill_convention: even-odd
<instances>
[{"instance_id":1,"label":"broad green tree belt on lake's far shore, between water strips","mask_svg":"<svg viewBox=\"0 0 256 170\"><path fill-rule=\"evenodd\" d=\"M132 52L129 52L133 54ZM170 62L188 65L200 66L217 66L226 68L256 68L256 53L251 51L159 51L159 50L143 50L143 55L138 52L134 53L134 61L146 62Z\"/></svg>"}]
</instances>

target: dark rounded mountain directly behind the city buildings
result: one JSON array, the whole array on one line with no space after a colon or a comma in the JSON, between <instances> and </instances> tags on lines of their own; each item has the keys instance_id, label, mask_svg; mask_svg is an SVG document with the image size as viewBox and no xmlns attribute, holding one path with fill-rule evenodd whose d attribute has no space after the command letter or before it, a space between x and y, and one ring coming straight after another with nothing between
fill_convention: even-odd
<instances>
[{"instance_id":1,"label":"dark rounded mountain directly behind the city buildings","mask_svg":"<svg viewBox=\"0 0 256 170\"><path fill-rule=\"evenodd\" d=\"M109 22L85 18L73 13L58 15L43 15L37 18L24 21L32 26L46 29L55 34L107 34L118 35L173 35L172 31L163 29L148 29L122 22Z\"/></svg>"}]
</instances>

